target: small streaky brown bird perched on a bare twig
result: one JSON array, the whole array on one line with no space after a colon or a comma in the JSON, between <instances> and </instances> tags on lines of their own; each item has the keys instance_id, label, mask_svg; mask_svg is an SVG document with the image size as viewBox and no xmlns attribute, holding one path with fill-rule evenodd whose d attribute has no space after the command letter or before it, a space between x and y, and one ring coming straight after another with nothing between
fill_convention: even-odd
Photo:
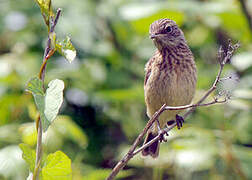
<instances>
[{"instance_id":1,"label":"small streaky brown bird perched on a bare twig","mask_svg":"<svg viewBox=\"0 0 252 180\"><path fill-rule=\"evenodd\" d=\"M145 65L144 96L149 118L167 106L190 104L195 93L197 70L193 54L187 45L184 33L170 19L160 19L150 26L150 38L157 50ZM165 111L148 130L144 144L158 135L168 121L181 121L181 111ZM183 119L182 119L183 120ZM177 123L182 126L182 123ZM142 151L143 156L156 158L159 154L160 141Z\"/></svg>"}]
</instances>

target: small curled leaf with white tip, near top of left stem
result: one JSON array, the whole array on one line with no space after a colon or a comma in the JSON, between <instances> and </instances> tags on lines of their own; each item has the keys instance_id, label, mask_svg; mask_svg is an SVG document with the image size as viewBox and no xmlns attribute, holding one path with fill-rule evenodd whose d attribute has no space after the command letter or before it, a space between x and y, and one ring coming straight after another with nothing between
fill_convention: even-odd
<instances>
[{"instance_id":1,"label":"small curled leaf with white tip, near top of left stem","mask_svg":"<svg viewBox=\"0 0 252 180\"><path fill-rule=\"evenodd\" d=\"M71 43L70 37L68 36L63 41L56 43L56 49L70 63L74 60L76 56L76 50L73 44Z\"/></svg>"}]
</instances>

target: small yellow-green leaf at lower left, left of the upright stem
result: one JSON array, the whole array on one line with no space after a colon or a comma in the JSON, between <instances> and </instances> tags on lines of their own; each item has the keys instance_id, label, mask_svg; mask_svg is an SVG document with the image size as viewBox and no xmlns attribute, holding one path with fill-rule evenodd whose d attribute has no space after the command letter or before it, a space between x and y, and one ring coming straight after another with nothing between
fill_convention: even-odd
<instances>
[{"instance_id":1,"label":"small yellow-green leaf at lower left, left of the upright stem","mask_svg":"<svg viewBox=\"0 0 252 180\"><path fill-rule=\"evenodd\" d=\"M36 153L35 150L31 149L27 144L19 144L20 149L23 151L22 157L29 164L29 169L31 172L34 171Z\"/></svg>"}]
</instances>

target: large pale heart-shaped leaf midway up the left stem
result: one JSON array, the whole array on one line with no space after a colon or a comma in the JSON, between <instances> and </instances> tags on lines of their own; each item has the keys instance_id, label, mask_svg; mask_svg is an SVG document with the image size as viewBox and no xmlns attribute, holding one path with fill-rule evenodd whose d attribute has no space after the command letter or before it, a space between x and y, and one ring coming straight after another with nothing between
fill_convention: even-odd
<instances>
[{"instance_id":1,"label":"large pale heart-shaped leaf midway up the left stem","mask_svg":"<svg viewBox=\"0 0 252 180\"><path fill-rule=\"evenodd\" d=\"M64 82L59 79L49 82L46 94L43 92L42 81L39 78L32 78L28 83L27 90L34 96L43 131L48 129L59 112L63 102L63 89Z\"/></svg>"}]
</instances>

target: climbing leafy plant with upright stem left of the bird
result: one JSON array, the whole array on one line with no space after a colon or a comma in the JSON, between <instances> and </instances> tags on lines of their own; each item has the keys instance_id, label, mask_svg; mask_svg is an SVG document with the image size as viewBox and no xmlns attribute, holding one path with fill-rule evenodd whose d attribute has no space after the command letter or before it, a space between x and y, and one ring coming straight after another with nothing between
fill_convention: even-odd
<instances>
[{"instance_id":1,"label":"climbing leafy plant with upright stem left of the bird","mask_svg":"<svg viewBox=\"0 0 252 180\"><path fill-rule=\"evenodd\" d=\"M76 56L76 50L67 36L65 40L58 41L55 26L58 22L61 10L58 9L56 15L52 10L51 0L36 0L41 9L41 14L48 28L47 46L44 58L40 67L38 77L33 77L27 84L27 91L33 97L39 112L36 121L37 125L37 148L31 149L26 144L20 144L23 151L23 159L29 164L30 175L28 179L72 179L71 160L61 151L49 154L45 159L42 158L42 133L46 132L54 119L57 117L63 102L64 82L54 79L49 82L48 88L44 89L44 78L47 61L55 51L62 54L68 62L72 62Z\"/></svg>"}]
</instances>

